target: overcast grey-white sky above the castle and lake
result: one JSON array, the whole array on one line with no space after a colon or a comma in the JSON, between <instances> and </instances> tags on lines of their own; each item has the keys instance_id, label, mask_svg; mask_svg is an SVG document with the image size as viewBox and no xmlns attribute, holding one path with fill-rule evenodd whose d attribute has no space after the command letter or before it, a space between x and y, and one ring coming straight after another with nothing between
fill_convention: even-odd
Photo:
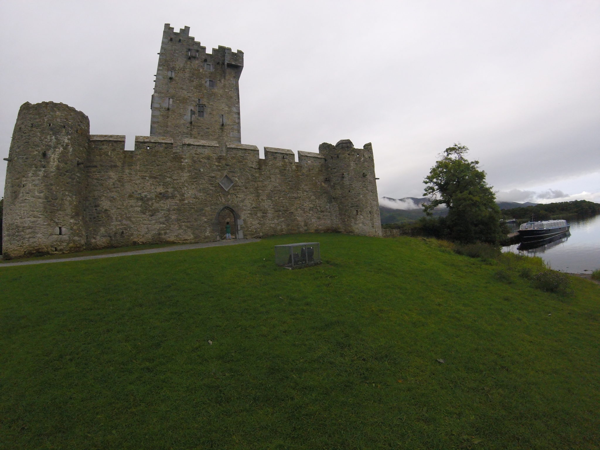
<instances>
[{"instance_id":1,"label":"overcast grey-white sky above the castle and lake","mask_svg":"<svg viewBox=\"0 0 600 450\"><path fill-rule=\"evenodd\" d=\"M454 142L501 200L600 202L600 2L2 2L0 154L19 106L149 134L164 23L244 51L242 143L372 142L379 197L421 197ZM4 185L5 161L0 165Z\"/></svg>"}]
</instances>

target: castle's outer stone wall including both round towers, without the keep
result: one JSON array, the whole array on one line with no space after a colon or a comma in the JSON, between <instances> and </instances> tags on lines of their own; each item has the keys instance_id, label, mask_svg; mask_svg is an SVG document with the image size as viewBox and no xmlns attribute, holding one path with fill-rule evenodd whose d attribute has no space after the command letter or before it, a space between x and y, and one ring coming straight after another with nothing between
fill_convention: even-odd
<instances>
[{"instance_id":1,"label":"castle's outer stone wall including both round towers, without the keep","mask_svg":"<svg viewBox=\"0 0 600 450\"><path fill-rule=\"evenodd\" d=\"M253 145L229 143L223 151L206 140L178 145L137 136L135 150L125 151L124 136L89 136L82 113L40 105L25 104L15 128L5 188L7 257L215 241L224 208L235 212L233 232L246 238L381 235L370 145L325 143L320 153L298 152L295 161L288 149L265 148L260 159Z\"/></svg>"}]
</instances>

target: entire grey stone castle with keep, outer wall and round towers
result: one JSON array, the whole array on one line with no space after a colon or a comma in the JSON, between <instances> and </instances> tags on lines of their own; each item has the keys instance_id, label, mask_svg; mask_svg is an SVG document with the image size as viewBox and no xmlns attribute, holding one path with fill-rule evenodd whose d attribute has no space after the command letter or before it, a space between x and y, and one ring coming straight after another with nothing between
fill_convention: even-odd
<instances>
[{"instance_id":1,"label":"entire grey stone castle with keep, outer wall and round towers","mask_svg":"<svg viewBox=\"0 0 600 450\"><path fill-rule=\"evenodd\" d=\"M161 242L331 232L380 236L373 149L241 143L244 53L166 24L150 136L89 134L62 103L19 109L4 188L5 258Z\"/></svg>"}]
</instances>

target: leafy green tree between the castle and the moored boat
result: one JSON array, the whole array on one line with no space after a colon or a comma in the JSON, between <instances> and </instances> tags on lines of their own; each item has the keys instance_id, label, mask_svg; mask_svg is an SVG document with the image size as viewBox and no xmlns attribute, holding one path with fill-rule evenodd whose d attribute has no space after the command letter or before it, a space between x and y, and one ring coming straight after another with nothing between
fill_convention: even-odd
<instances>
[{"instance_id":1,"label":"leafy green tree between the castle and the moored boat","mask_svg":"<svg viewBox=\"0 0 600 450\"><path fill-rule=\"evenodd\" d=\"M440 160L431 167L423 181L424 195L431 203L424 205L425 214L439 205L448 206L445 236L453 241L495 244L505 235L492 187L485 181L485 172L479 170L479 161L469 161L464 155L469 149L455 143L440 154Z\"/></svg>"}]
</instances>

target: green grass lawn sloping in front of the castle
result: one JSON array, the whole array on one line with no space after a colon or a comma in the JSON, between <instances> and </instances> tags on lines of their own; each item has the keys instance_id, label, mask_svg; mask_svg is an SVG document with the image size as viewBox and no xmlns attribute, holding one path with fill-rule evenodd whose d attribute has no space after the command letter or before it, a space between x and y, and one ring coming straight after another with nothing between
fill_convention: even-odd
<instances>
[{"instance_id":1,"label":"green grass lawn sloping in front of the castle","mask_svg":"<svg viewBox=\"0 0 600 450\"><path fill-rule=\"evenodd\" d=\"M0 268L0 448L600 448L600 286L502 264L323 234Z\"/></svg>"}]
</instances>

